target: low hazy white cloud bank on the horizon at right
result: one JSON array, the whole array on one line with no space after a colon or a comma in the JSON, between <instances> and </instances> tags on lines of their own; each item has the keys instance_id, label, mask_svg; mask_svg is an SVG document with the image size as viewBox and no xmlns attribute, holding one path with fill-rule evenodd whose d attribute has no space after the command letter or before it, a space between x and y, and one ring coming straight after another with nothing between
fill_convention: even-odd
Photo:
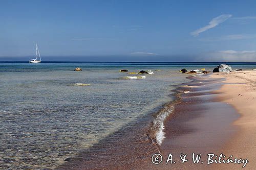
<instances>
[{"instance_id":1,"label":"low hazy white cloud bank on the horizon at right","mask_svg":"<svg viewBox=\"0 0 256 170\"><path fill-rule=\"evenodd\" d=\"M256 51L223 50L204 54L198 58L201 62L255 62Z\"/></svg>"}]
</instances>

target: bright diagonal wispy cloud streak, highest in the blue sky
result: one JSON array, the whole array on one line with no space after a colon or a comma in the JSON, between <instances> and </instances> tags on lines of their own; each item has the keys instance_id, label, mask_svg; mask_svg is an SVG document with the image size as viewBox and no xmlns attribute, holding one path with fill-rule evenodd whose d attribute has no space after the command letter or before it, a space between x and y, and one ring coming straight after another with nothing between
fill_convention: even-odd
<instances>
[{"instance_id":1,"label":"bright diagonal wispy cloud streak, highest in the blue sky","mask_svg":"<svg viewBox=\"0 0 256 170\"><path fill-rule=\"evenodd\" d=\"M202 33L202 32L204 32L204 31L206 31L206 30L209 30L209 29L211 29L211 28L214 28L214 27L218 26L220 23L226 21L226 20L227 20L228 18L230 18L231 16L232 16L232 15L230 15L230 14L222 14L222 15L216 17L216 18L211 19L211 21L209 22L209 24L208 24L207 26L202 27L202 28L200 28L200 29L198 29L198 30L196 30L196 31L193 31L193 32L191 32L190 34L196 37L196 36L198 36L200 33Z\"/></svg>"}]
</instances>

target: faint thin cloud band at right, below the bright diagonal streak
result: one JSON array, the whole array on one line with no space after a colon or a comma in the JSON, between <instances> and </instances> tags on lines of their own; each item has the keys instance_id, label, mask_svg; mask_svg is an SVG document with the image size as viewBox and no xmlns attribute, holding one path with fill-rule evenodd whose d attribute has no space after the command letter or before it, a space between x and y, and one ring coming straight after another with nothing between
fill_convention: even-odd
<instances>
[{"instance_id":1,"label":"faint thin cloud band at right, below the bright diagonal streak","mask_svg":"<svg viewBox=\"0 0 256 170\"><path fill-rule=\"evenodd\" d=\"M240 40L256 38L256 34L230 34L220 37L201 38L200 41L223 41L223 40Z\"/></svg>"}]
</instances>

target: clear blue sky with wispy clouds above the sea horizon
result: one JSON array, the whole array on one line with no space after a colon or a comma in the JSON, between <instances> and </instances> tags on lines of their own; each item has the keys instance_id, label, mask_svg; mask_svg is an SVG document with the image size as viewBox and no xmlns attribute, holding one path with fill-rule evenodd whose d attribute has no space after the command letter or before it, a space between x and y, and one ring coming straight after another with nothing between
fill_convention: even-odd
<instances>
[{"instance_id":1,"label":"clear blue sky with wispy clouds above the sea horizon","mask_svg":"<svg viewBox=\"0 0 256 170\"><path fill-rule=\"evenodd\" d=\"M256 61L255 1L1 1L0 60ZM79 56L79 57L77 57Z\"/></svg>"}]
</instances>

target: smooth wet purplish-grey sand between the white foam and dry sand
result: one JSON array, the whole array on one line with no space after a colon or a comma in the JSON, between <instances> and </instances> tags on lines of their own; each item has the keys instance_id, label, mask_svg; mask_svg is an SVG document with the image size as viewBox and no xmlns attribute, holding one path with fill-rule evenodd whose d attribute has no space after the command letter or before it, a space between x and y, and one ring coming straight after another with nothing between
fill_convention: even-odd
<instances>
[{"instance_id":1,"label":"smooth wet purplish-grey sand between the white foam and dry sand","mask_svg":"<svg viewBox=\"0 0 256 170\"><path fill-rule=\"evenodd\" d=\"M238 130L232 125L239 117L237 111L230 105L216 100L219 95L217 90L221 88L222 81L222 78L197 77L195 81L177 89L189 92L181 95L181 103L166 119L166 139L160 147L163 151L162 156L165 157L163 160L172 153L176 164L162 163L161 166L154 166L155 169L214 168L213 164L207 165L207 154L221 153L222 145L226 144ZM222 114L223 110L225 114ZM188 155L187 162L181 162L181 153ZM202 155L202 164L193 163L193 153Z\"/></svg>"}]
</instances>

